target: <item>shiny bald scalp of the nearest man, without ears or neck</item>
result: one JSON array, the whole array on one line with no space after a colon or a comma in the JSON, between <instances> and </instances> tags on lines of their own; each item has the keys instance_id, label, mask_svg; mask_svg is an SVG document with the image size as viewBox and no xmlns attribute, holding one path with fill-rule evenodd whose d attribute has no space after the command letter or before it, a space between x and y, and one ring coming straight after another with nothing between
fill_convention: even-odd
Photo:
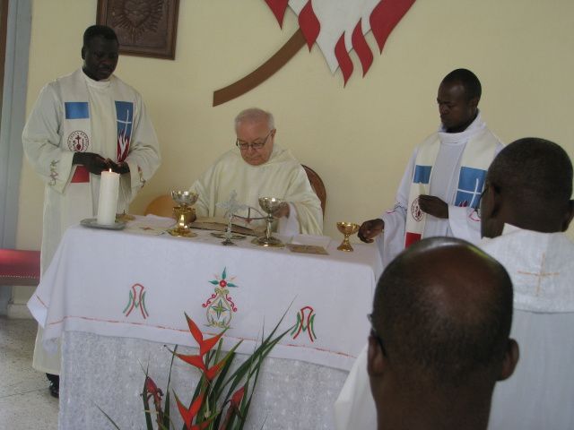
<instances>
[{"instance_id":1,"label":"shiny bald scalp of the nearest man, without ears or neck","mask_svg":"<svg viewBox=\"0 0 574 430\"><path fill-rule=\"evenodd\" d=\"M499 262L456 238L434 237L387 266L373 328L387 369L411 386L495 383L509 342L512 285Z\"/></svg>"}]
</instances>

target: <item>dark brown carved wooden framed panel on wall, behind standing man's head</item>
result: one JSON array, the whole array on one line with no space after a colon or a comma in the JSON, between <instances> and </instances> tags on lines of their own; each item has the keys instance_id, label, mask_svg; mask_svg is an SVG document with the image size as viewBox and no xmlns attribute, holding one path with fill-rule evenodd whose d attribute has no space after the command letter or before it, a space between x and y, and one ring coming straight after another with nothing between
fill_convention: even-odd
<instances>
[{"instance_id":1,"label":"dark brown carved wooden framed panel on wall, behind standing man's head","mask_svg":"<svg viewBox=\"0 0 574 430\"><path fill-rule=\"evenodd\" d=\"M179 0L98 0L97 20L116 31L119 53L175 59Z\"/></svg>"}]
</instances>

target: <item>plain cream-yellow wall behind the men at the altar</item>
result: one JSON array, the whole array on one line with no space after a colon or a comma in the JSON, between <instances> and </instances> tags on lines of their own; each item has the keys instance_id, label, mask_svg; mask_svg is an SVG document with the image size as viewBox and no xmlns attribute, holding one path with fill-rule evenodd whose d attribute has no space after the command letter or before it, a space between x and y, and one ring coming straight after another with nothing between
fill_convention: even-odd
<instances>
[{"instance_id":1,"label":"plain cream-yellow wall behind the men at the altar","mask_svg":"<svg viewBox=\"0 0 574 430\"><path fill-rule=\"evenodd\" d=\"M212 107L213 90L235 82L297 29L281 30L261 0L180 0L176 60L122 56L117 75L143 94L163 163L132 206L187 188L234 142L244 107L274 112L277 142L315 168L326 184L326 234L337 220L360 222L392 205L413 146L438 125L436 91L457 67L483 82L483 117L505 142L526 135L561 143L574 158L574 2L419 0L375 53L370 72L343 88L317 47L302 49L247 95ZM95 0L35 0L28 111L42 85L81 64L83 30ZM374 39L369 35L371 47ZM39 248L43 185L24 161L18 246Z\"/></svg>"}]
</instances>

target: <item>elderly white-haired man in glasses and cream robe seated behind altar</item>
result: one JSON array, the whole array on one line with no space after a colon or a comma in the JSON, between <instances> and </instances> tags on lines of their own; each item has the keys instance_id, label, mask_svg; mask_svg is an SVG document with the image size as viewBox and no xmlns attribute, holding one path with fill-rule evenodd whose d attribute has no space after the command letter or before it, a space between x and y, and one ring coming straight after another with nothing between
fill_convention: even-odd
<instances>
[{"instance_id":1,"label":"elderly white-haired man in glasses and cream robe seated behind altar","mask_svg":"<svg viewBox=\"0 0 574 430\"><path fill-rule=\"evenodd\" d=\"M287 202L274 214L278 233L321 235L321 203L299 161L289 150L275 144L273 115L255 107L246 109L235 118L235 133L236 148L217 159L190 188L198 194L197 218L224 217L226 209L217 203L228 201L235 191L239 203L259 211L259 197L276 197ZM239 215L247 217L248 211ZM257 219L250 227L261 225L264 221Z\"/></svg>"}]
</instances>

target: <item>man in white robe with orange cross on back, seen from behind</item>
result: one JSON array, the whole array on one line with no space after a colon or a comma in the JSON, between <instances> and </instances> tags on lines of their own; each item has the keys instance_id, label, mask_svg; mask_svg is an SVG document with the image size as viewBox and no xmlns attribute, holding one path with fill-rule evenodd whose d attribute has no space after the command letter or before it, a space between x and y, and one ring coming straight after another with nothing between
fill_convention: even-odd
<instances>
[{"instance_id":1,"label":"man in white robe with orange cross on back, seen from behind","mask_svg":"<svg viewBox=\"0 0 574 430\"><path fill-rule=\"evenodd\" d=\"M571 194L568 154L544 139L510 143L486 176L479 246L509 272L510 336L520 346L514 375L494 389L490 430L574 428L574 243L563 233L574 215ZM335 403L335 420L337 430L377 426L366 348Z\"/></svg>"}]
</instances>

